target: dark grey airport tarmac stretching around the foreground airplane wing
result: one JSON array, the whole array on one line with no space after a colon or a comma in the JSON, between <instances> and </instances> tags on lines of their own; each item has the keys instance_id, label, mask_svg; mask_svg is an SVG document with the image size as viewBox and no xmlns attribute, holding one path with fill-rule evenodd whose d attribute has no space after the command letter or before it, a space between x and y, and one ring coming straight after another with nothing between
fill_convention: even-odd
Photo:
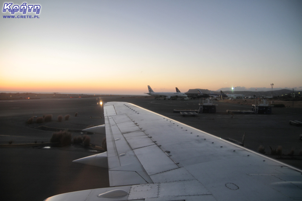
<instances>
[{"instance_id":1,"label":"dark grey airport tarmac stretching around the foreground airplane wing","mask_svg":"<svg viewBox=\"0 0 302 201\"><path fill-rule=\"evenodd\" d=\"M302 108L272 108L271 115L244 115L226 113L231 110L250 110L250 105L214 101L215 114L182 117L173 109L197 109L199 100L154 100L150 96L102 96L101 98L43 98L0 100L0 144L49 142L53 131L40 130L38 124L27 124L32 116L53 115L53 121L44 123L62 129L84 129L89 125L104 124L103 110L98 102L124 101L149 109L221 138L241 141L257 151L259 145L270 153L269 146L282 146L283 154L294 149L299 155L302 127L290 125L290 120L301 120ZM78 112L77 117L74 114ZM70 115L68 121L58 122L58 115ZM75 135L81 133L72 132ZM101 146L103 135L89 134L91 143ZM185 146L185 145L184 145ZM68 148L0 147L1 200L43 200L49 196L77 190L109 186L108 171L102 168L72 163L72 160L96 154L81 146ZM284 156L283 158L288 158ZM302 169L300 156L282 162Z\"/></svg>"}]
</instances>

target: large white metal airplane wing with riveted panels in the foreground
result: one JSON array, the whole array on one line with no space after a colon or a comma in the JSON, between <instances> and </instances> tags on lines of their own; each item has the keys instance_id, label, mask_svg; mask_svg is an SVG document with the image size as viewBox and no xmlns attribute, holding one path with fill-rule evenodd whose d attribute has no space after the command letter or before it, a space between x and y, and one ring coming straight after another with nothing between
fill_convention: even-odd
<instances>
[{"instance_id":1,"label":"large white metal airplane wing with riveted panels in the foreground","mask_svg":"<svg viewBox=\"0 0 302 201\"><path fill-rule=\"evenodd\" d=\"M104 104L110 186L46 200L296 200L301 170L126 102Z\"/></svg>"}]
</instances>

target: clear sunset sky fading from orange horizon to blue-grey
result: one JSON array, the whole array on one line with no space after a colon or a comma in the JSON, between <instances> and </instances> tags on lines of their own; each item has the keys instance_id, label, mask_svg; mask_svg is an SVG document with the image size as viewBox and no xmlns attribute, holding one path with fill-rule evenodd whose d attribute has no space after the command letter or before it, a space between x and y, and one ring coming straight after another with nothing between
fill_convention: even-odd
<instances>
[{"instance_id":1,"label":"clear sunset sky fading from orange horizon to blue-grey","mask_svg":"<svg viewBox=\"0 0 302 201\"><path fill-rule=\"evenodd\" d=\"M302 87L300 0L38 2L1 16L0 91Z\"/></svg>"}]
</instances>

